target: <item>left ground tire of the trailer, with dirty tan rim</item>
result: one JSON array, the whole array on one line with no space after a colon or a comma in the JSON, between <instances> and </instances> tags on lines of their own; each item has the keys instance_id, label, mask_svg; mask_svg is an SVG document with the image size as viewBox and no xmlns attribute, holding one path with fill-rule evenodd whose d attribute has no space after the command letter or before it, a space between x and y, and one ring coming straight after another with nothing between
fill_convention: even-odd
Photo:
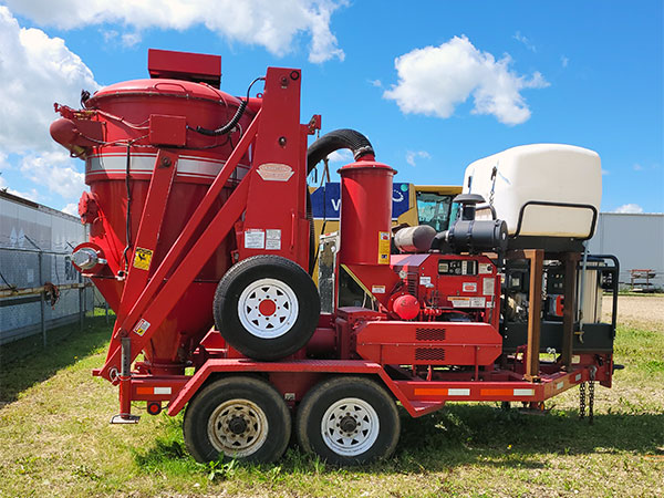
<instances>
[{"instance_id":1,"label":"left ground tire of the trailer, with dirty tan rim","mask_svg":"<svg viewBox=\"0 0 664 498\"><path fill-rule=\"evenodd\" d=\"M271 463L291 436L291 414L264 381L230 376L204 387L185 412L185 445L197 461L237 458Z\"/></svg>"}]
</instances>

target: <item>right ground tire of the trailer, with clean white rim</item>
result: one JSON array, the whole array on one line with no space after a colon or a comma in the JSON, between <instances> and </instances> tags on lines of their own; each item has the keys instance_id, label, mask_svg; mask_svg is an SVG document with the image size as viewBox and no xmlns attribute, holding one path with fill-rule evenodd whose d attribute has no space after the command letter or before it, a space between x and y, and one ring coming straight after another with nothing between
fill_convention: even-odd
<instances>
[{"instance_id":1,"label":"right ground tire of the trailer, with clean white rim","mask_svg":"<svg viewBox=\"0 0 664 498\"><path fill-rule=\"evenodd\" d=\"M376 382L360 376L318 384L302 400L295 418L301 448L341 466L388 458L400 432L392 396Z\"/></svg>"}]
</instances>

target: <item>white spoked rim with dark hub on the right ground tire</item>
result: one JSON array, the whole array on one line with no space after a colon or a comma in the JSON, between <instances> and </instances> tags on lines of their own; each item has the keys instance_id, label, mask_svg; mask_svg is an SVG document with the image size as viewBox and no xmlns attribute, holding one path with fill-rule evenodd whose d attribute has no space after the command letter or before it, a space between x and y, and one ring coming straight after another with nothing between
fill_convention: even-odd
<instances>
[{"instance_id":1,"label":"white spoked rim with dark hub on the right ground tire","mask_svg":"<svg viewBox=\"0 0 664 498\"><path fill-rule=\"evenodd\" d=\"M349 424L351 419L353 422ZM353 424L352 430L347 430ZM357 456L366 452L376 442L380 430L376 411L357 397L339 400L326 409L321 421L323 442L335 454L343 456Z\"/></svg>"}]
</instances>

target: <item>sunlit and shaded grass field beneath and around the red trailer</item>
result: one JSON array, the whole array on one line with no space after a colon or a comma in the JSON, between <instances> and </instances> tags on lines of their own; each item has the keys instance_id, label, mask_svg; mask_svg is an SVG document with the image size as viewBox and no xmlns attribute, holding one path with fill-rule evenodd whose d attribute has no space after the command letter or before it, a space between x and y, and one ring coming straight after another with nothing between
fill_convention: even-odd
<instances>
[{"instance_id":1,"label":"sunlit and shaded grass field beneath and around the red trailer","mask_svg":"<svg viewBox=\"0 0 664 498\"><path fill-rule=\"evenodd\" d=\"M2 350L0 496L664 496L664 299L621 321L614 387L598 386L595 424L578 419L578 390L547 416L494 404L448 405L412 419L388 461L338 469L289 448L272 466L199 465L181 416L111 426L117 390L91 377L108 325L91 319L46 351ZM624 304L624 305L623 305Z\"/></svg>"}]
</instances>

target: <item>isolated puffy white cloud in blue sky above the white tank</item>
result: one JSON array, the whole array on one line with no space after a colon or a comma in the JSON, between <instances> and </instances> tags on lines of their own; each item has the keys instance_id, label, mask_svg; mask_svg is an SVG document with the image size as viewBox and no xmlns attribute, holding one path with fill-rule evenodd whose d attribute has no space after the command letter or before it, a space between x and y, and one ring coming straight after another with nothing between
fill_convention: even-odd
<instances>
[{"instance_id":1,"label":"isolated puffy white cloud in blue sky above the white tank","mask_svg":"<svg viewBox=\"0 0 664 498\"><path fill-rule=\"evenodd\" d=\"M473 114L492 114L500 123L516 125L530 118L520 92L549 83L539 72L530 77L515 73L511 62L508 54L497 61L466 37L454 37L397 58L398 83L383 96L396 101L403 113L447 118L473 95Z\"/></svg>"}]
</instances>

